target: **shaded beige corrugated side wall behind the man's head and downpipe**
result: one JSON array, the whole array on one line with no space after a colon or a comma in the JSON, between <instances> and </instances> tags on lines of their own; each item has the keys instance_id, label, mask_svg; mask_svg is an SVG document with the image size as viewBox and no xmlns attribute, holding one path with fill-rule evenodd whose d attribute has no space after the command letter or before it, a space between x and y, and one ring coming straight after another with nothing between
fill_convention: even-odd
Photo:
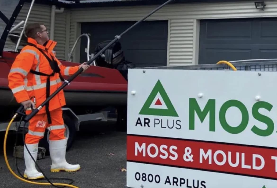
<instances>
[{"instance_id":1,"label":"shaded beige corrugated side wall behind the man's head and downpipe","mask_svg":"<svg viewBox=\"0 0 277 188\"><path fill-rule=\"evenodd\" d=\"M19 23L21 20L25 20L27 13L29 11L30 3L24 3L15 24ZM51 6L49 5L41 5L34 4L32 11L30 13L30 17L27 23L33 22L42 22L48 29L50 35L50 20L51 20ZM66 12L65 13L57 13L55 18L55 36L54 39L58 42L55 47L55 51L57 53L58 58L65 58L65 28L66 28ZM17 29L15 32L21 32L20 29ZM5 48L11 48L14 50L15 44L7 38L5 43Z\"/></svg>"}]
</instances>

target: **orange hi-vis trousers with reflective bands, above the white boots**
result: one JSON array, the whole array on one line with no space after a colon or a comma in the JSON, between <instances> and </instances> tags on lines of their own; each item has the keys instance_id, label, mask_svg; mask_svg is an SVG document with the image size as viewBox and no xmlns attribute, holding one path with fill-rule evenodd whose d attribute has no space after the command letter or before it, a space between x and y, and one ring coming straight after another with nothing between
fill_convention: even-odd
<instances>
[{"instance_id":1,"label":"orange hi-vis trousers with reflective bands, above the white boots","mask_svg":"<svg viewBox=\"0 0 277 188\"><path fill-rule=\"evenodd\" d=\"M44 137L45 129L50 131L49 140L61 140L65 139L65 125L62 117L62 109L58 108L50 111L52 123L48 124L47 115L36 114L29 120L29 131L25 136L26 144L39 143L39 140Z\"/></svg>"}]
</instances>

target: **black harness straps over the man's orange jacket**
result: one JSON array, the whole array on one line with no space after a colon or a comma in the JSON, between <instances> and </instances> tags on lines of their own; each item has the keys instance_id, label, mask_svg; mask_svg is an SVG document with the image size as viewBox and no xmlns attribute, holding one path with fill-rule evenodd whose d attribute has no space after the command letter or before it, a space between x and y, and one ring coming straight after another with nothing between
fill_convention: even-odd
<instances>
[{"instance_id":1,"label":"black harness straps over the man's orange jacket","mask_svg":"<svg viewBox=\"0 0 277 188\"><path fill-rule=\"evenodd\" d=\"M31 43L29 45L34 46L35 48L37 48L35 45L33 45ZM55 61L55 58L51 55L51 57L52 57L52 60L51 60L41 49L39 49L39 48L37 48L37 49L48 60L48 62L50 64L51 69L53 70L53 72L51 74L45 74L45 73L42 73L42 72L30 70L30 73L33 73L33 74L36 74L36 75L40 75L40 76L48 76L48 78L46 80L46 98L48 98L50 96L50 76L54 76L55 73L58 73L61 81L64 81L65 79L61 76L61 73L60 73L61 69L59 68L57 61ZM45 110L46 110L46 114L47 114L48 123L51 124L52 120L51 120L50 111L49 111L49 102L47 102L45 104Z\"/></svg>"}]
</instances>

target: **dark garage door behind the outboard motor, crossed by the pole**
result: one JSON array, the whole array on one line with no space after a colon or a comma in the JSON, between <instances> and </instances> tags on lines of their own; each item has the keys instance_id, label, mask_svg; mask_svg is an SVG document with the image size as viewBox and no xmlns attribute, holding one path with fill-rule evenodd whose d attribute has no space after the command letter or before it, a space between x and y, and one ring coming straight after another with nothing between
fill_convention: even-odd
<instances>
[{"instance_id":1,"label":"dark garage door behind the outboard motor, crossed by the pole","mask_svg":"<svg viewBox=\"0 0 277 188\"><path fill-rule=\"evenodd\" d=\"M135 22L82 23L81 33L91 34L90 53L104 40L113 40ZM119 40L125 59L136 67L166 66L168 21L144 21ZM80 62L86 61L86 38L81 40Z\"/></svg>"}]
</instances>

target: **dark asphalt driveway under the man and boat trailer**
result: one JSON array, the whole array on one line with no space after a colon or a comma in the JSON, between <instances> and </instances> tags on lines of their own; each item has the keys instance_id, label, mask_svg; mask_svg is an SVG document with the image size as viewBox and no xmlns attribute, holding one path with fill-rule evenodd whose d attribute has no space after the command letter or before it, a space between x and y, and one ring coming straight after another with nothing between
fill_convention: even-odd
<instances>
[{"instance_id":1,"label":"dark asphalt driveway under the man and boat trailer","mask_svg":"<svg viewBox=\"0 0 277 188\"><path fill-rule=\"evenodd\" d=\"M0 133L0 139L4 140L4 133ZM14 141L14 135L10 135L7 140L7 154L10 166L18 174L15 159L12 157ZM4 161L2 143L3 141L0 146L0 187L53 187L28 184L14 177L7 169ZM80 164L81 169L77 172L52 173L50 172L50 156L38 160L38 163L48 178L70 178L74 180L73 185L79 188L125 187L126 172L122 172L121 169L126 168L126 132L117 132L115 121L85 123L81 125L72 148L66 153L66 159L68 163ZM17 159L17 161L20 172L23 173L24 160ZM69 181L64 180L52 181L69 183Z\"/></svg>"}]
</instances>

